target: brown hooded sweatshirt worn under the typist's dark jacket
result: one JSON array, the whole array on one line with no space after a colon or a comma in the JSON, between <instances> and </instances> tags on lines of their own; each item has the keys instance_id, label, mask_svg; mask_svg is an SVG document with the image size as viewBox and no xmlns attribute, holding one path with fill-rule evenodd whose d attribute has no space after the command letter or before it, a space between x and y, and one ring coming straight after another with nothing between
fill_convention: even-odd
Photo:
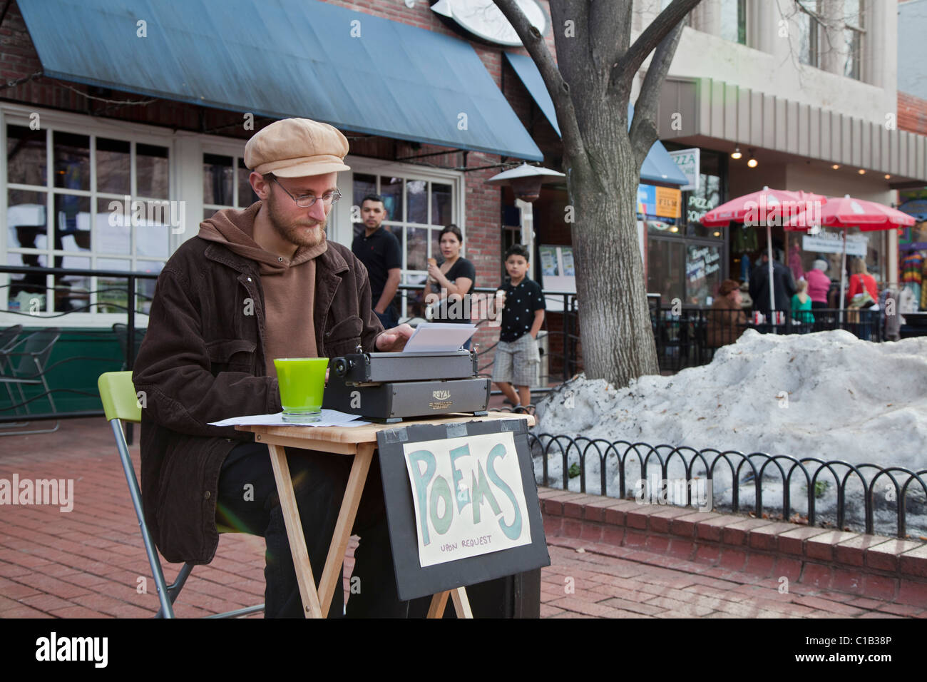
<instances>
[{"instance_id":1,"label":"brown hooded sweatshirt worn under the typist's dark jacket","mask_svg":"<svg viewBox=\"0 0 927 682\"><path fill-rule=\"evenodd\" d=\"M199 224L199 237L218 241L229 251L259 264L267 327L267 376L276 377L275 357L318 357L312 324L315 257L328 249L328 243L300 246L290 261L264 251L252 238L259 211L260 201L247 209L222 209Z\"/></svg>"}]
</instances>

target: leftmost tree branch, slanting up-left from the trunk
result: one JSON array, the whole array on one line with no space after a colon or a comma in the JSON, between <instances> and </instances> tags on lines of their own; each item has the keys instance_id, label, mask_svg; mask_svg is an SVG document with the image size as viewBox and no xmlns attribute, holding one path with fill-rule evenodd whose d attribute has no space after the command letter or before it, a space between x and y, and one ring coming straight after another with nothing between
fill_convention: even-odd
<instances>
[{"instance_id":1,"label":"leftmost tree branch, slanting up-left from the trunk","mask_svg":"<svg viewBox=\"0 0 927 682\"><path fill-rule=\"evenodd\" d=\"M566 155L572 159L581 159L585 155L585 150L582 136L579 135L576 110L573 108L573 98L570 96L570 86L564 80L560 70L557 69L551 51L544 42L544 37L538 29L531 25L521 7L515 3L515 0L494 0L494 2L502 10L505 19L508 19L509 23L512 24L521 39L522 45L525 45L528 54L534 59L534 63L538 65L541 78L544 79L544 84L547 85L547 91L551 94L553 100L553 109L557 113L557 123L560 126L560 135L564 142ZM570 4L576 7L578 16L585 16L586 3L579 0ZM563 27L552 25L554 36L562 29ZM577 23L576 30L578 32L588 32L585 22L583 24ZM584 36L582 39L589 40L588 36ZM571 38L570 40L574 39Z\"/></svg>"}]
</instances>

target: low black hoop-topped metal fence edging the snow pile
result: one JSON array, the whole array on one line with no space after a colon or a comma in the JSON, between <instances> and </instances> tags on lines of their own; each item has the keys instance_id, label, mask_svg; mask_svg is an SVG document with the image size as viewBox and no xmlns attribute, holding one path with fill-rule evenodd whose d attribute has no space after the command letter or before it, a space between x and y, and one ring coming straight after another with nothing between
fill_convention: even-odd
<instances>
[{"instance_id":1,"label":"low black hoop-topped metal fence edging the snow pile","mask_svg":"<svg viewBox=\"0 0 927 682\"><path fill-rule=\"evenodd\" d=\"M704 478L712 482L715 508L739 512L743 498L752 498L748 507L756 518L778 515L785 521L794 519L795 514L802 516L802 510L796 508L793 501L793 488L797 486L805 500L801 520L808 525L820 524L838 530L853 527L873 534L877 525L882 530L894 516L895 534L909 537L910 514L917 518L914 535L927 540L927 470L883 468L876 464L825 461L818 457L796 458L760 452L745 455L737 450L609 442L550 433L529 433L528 443L535 460L540 458L540 471L536 466L540 485L554 484L564 490L617 498L625 498L633 491L634 496L640 498L643 491L661 487L654 485L653 478L648 478L651 475L659 476L657 483ZM560 465L559 481L552 482L550 456ZM597 470L598 475L590 469ZM636 476L632 489L629 489L629 475ZM571 484L576 478L578 481ZM598 485L587 490L590 478L593 482L597 478ZM764 501L764 483L781 485L781 504ZM690 484L685 488L685 506L692 505L693 487ZM680 499L675 503L683 506ZM820 507L826 508L826 514L819 512Z\"/></svg>"}]
</instances>

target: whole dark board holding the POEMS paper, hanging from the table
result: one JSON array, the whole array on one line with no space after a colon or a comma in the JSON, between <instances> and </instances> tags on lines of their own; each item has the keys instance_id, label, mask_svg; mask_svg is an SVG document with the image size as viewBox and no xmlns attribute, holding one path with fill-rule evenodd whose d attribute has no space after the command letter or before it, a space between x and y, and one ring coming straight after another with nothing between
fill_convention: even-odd
<instances>
[{"instance_id":1,"label":"whole dark board holding the POEMS paper, hanging from the table","mask_svg":"<svg viewBox=\"0 0 927 682\"><path fill-rule=\"evenodd\" d=\"M377 433L400 599L549 566L524 419Z\"/></svg>"}]
</instances>

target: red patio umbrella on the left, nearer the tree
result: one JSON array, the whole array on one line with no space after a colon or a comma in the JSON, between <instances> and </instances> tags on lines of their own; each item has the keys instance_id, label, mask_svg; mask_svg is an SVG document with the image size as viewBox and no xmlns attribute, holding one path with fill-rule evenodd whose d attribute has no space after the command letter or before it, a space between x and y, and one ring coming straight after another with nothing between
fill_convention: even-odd
<instances>
[{"instance_id":1,"label":"red patio umbrella on the left, nearer the tree","mask_svg":"<svg viewBox=\"0 0 927 682\"><path fill-rule=\"evenodd\" d=\"M781 225L796 214L805 212L806 208L827 203L827 198L819 194L788 189L769 189L763 187L758 192L744 194L743 197L730 199L702 216L705 227L727 227L731 223L743 223L748 227L766 227L766 247L769 266L769 312L776 309L772 286L772 225ZM772 320L770 320L772 322Z\"/></svg>"}]
</instances>

